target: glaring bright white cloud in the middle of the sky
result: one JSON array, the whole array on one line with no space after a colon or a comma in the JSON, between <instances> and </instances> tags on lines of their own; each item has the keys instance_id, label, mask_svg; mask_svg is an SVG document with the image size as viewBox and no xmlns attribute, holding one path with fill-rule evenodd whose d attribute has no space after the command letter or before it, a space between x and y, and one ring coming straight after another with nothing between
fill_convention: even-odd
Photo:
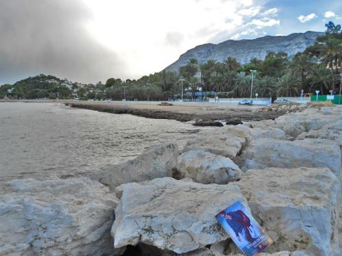
<instances>
[{"instance_id":1,"label":"glaring bright white cloud in the middle of the sky","mask_svg":"<svg viewBox=\"0 0 342 256\"><path fill-rule=\"evenodd\" d=\"M222 31L220 41L230 38L262 8L253 0L82 1L94 14L88 31L120 53L133 78L161 71L198 44L218 42Z\"/></svg>"}]
</instances>

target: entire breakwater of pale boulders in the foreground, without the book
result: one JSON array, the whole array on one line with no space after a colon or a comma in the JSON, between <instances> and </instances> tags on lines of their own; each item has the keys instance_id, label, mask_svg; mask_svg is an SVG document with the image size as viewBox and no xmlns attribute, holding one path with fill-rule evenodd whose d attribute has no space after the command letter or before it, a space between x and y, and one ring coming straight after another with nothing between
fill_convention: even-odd
<instances>
[{"instance_id":1,"label":"entire breakwater of pale boulders in the foreground, without the book","mask_svg":"<svg viewBox=\"0 0 342 256\"><path fill-rule=\"evenodd\" d=\"M0 252L241 255L215 220L241 201L274 240L260 255L341 255L341 120L341 107L301 107L153 146L94 181L12 181Z\"/></svg>"}]
</instances>

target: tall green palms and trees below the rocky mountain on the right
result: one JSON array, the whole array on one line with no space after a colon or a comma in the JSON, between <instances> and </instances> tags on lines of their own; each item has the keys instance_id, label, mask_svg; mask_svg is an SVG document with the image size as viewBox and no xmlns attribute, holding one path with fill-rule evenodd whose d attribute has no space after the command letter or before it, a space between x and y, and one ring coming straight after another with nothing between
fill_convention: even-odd
<instances>
[{"instance_id":1,"label":"tall green palms and trees below the rocky mountain on the right","mask_svg":"<svg viewBox=\"0 0 342 256\"><path fill-rule=\"evenodd\" d=\"M252 59L241 66L237 60L228 57L224 62L208 60L198 64L196 59L189 60L181 67L180 75L187 86L194 90L202 87L206 91L225 92L229 97L249 97L252 76L250 70L257 71L254 77L255 90L261 97L299 96L301 90L322 93L339 93L342 60L341 26L330 22L326 25L324 36L303 53L291 60L286 53L268 53L265 60Z\"/></svg>"}]
</instances>

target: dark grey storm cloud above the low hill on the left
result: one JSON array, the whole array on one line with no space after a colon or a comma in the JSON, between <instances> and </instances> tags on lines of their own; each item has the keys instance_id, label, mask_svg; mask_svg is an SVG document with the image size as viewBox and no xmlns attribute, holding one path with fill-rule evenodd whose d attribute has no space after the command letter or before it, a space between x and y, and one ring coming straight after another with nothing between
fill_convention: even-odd
<instances>
[{"instance_id":1,"label":"dark grey storm cloud above the low hill on the left","mask_svg":"<svg viewBox=\"0 0 342 256\"><path fill-rule=\"evenodd\" d=\"M124 77L120 57L87 31L91 18L78 0L0 0L0 84L40 73L81 82Z\"/></svg>"}]
</instances>

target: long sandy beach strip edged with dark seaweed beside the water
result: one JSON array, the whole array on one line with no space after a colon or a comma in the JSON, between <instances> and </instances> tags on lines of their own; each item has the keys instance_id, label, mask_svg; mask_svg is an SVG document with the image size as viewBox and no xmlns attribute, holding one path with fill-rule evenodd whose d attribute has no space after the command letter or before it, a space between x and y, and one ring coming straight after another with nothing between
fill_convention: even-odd
<instances>
[{"instance_id":1,"label":"long sandy beach strip edged with dark seaweed beside the water","mask_svg":"<svg viewBox=\"0 0 342 256\"><path fill-rule=\"evenodd\" d=\"M274 120L287 114L286 110L272 110L260 105L237 105L235 103L173 103L174 105L158 105L158 102L129 103L122 101L75 101L75 100L0 100L16 103L60 103L70 107L106 112L111 114L130 114L153 119L176 120L179 122L194 122L195 126L237 125L248 121ZM266 111L263 111L266 110ZM219 121L219 123L217 122ZM220 123L221 122L221 123Z\"/></svg>"}]
</instances>

